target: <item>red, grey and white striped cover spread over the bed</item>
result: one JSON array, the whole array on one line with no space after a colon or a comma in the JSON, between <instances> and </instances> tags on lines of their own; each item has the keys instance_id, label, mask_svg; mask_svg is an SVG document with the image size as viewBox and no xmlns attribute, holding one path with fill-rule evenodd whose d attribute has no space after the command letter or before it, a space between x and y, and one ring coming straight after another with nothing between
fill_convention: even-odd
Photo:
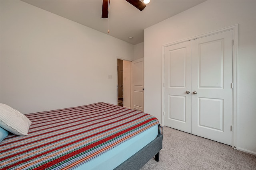
<instances>
[{"instance_id":1,"label":"red, grey and white striped cover spread over the bed","mask_svg":"<svg viewBox=\"0 0 256 170\"><path fill-rule=\"evenodd\" d=\"M29 135L0 143L0 169L74 169L159 125L152 115L102 102L26 116Z\"/></svg>"}]
</instances>

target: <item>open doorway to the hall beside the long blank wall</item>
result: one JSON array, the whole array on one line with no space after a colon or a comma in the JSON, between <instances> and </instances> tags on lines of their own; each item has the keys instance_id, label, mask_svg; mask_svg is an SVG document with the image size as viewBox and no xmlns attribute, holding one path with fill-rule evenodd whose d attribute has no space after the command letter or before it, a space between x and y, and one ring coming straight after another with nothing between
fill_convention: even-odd
<instances>
[{"instance_id":1,"label":"open doorway to the hall beside the long blank wall","mask_svg":"<svg viewBox=\"0 0 256 170\"><path fill-rule=\"evenodd\" d=\"M117 59L117 104L131 108L131 61Z\"/></svg>"}]
</instances>

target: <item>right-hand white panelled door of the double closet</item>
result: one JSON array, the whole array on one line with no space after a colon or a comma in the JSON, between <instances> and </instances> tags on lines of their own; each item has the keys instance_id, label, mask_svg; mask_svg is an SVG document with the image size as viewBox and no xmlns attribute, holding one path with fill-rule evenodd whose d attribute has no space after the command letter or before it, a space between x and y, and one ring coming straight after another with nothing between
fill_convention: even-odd
<instances>
[{"instance_id":1,"label":"right-hand white panelled door of the double closet","mask_svg":"<svg viewBox=\"0 0 256 170\"><path fill-rule=\"evenodd\" d=\"M232 145L232 39L230 30L192 41L192 134L227 145Z\"/></svg>"}]
</instances>

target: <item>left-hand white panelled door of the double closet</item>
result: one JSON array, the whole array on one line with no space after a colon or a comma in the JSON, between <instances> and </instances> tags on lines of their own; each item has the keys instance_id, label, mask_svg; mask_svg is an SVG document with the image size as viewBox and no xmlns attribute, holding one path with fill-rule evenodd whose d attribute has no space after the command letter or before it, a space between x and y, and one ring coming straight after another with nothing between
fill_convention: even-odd
<instances>
[{"instance_id":1,"label":"left-hand white panelled door of the double closet","mask_svg":"<svg viewBox=\"0 0 256 170\"><path fill-rule=\"evenodd\" d=\"M191 133L191 41L164 49L164 124Z\"/></svg>"}]
</instances>

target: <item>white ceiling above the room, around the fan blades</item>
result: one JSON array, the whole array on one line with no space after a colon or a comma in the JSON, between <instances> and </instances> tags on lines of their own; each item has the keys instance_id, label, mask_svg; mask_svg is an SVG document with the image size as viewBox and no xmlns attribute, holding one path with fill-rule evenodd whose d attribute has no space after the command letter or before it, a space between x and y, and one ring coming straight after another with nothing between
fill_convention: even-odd
<instances>
[{"instance_id":1,"label":"white ceiling above the room, around the fan blades","mask_svg":"<svg viewBox=\"0 0 256 170\"><path fill-rule=\"evenodd\" d=\"M102 0L22 1L106 34L109 28L109 35L135 45L144 41L145 28L205 0L151 0L143 11L125 0L110 0L108 19L101 18Z\"/></svg>"}]
</instances>

